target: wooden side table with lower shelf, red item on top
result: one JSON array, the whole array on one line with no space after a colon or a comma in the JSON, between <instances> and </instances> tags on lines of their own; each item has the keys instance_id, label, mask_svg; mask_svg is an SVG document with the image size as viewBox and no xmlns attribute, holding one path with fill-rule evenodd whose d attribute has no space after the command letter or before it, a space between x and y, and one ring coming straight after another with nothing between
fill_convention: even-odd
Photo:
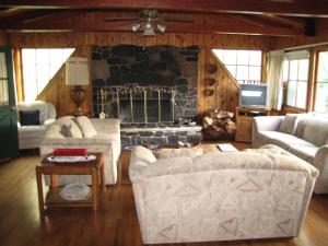
<instances>
[{"instance_id":1,"label":"wooden side table with lower shelf, red item on top","mask_svg":"<svg viewBox=\"0 0 328 246\"><path fill-rule=\"evenodd\" d=\"M54 163L45 157L39 165L36 166L36 181L38 191L39 211L43 214L45 207L93 207L97 209L98 186L105 188L105 171L104 154L90 153L96 156L95 160L89 162L67 162ZM60 197L62 187L58 186L58 175L91 175L92 176L92 196L86 200L69 201ZM43 175L50 176L49 191L44 198Z\"/></svg>"}]
</instances>

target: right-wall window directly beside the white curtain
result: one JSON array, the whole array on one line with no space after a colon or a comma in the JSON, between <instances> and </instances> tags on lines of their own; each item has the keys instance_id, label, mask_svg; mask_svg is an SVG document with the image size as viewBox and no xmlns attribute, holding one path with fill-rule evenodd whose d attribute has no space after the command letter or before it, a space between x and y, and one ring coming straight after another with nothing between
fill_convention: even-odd
<instances>
[{"instance_id":1,"label":"right-wall window directly beside the white curtain","mask_svg":"<svg viewBox=\"0 0 328 246\"><path fill-rule=\"evenodd\" d=\"M285 55L283 78L286 81L286 102L291 107L306 108L309 54L295 51Z\"/></svg>"}]
</instances>

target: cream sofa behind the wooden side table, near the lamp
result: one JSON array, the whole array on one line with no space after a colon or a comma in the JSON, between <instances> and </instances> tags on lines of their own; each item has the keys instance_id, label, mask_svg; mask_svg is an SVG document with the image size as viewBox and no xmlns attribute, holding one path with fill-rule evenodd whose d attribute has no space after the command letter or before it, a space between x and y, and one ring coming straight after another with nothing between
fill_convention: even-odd
<instances>
[{"instance_id":1,"label":"cream sofa behind the wooden side table, near the lamp","mask_svg":"<svg viewBox=\"0 0 328 246\"><path fill-rule=\"evenodd\" d=\"M52 153L54 149L85 148L89 152L103 152L105 157L105 184L115 185L117 181L117 164L120 155L119 120L114 118L91 118L89 122L92 126L87 126L86 130L81 129L77 120L78 118L73 116L65 116L58 118L47 129L40 143L40 157ZM91 132L94 132L94 134L91 134ZM72 183L91 184L91 177L85 175L59 176L60 185Z\"/></svg>"}]
</instances>

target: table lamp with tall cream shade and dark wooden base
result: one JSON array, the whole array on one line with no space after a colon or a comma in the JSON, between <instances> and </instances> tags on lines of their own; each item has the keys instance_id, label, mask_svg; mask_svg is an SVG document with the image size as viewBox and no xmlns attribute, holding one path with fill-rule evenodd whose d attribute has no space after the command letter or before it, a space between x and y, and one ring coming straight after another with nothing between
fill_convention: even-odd
<instances>
[{"instance_id":1,"label":"table lamp with tall cream shade and dark wooden base","mask_svg":"<svg viewBox=\"0 0 328 246\"><path fill-rule=\"evenodd\" d=\"M86 57L71 57L66 62L66 85L74 85L71 90L71 99L75 104L75 116L83 115L82 104L85 99L85 90L89 85L89 65Z\"/></svg>"}]
</instances>

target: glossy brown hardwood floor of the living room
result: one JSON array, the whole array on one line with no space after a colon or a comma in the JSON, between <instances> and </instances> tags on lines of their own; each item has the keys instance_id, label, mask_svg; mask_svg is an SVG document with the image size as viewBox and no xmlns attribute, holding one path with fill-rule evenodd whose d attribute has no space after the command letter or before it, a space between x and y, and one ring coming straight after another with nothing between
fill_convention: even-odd
<instances>
[{"instance_id":1,"label":"glossy brown hardwood floor of the living room","mask_svg":"<svg viewBox=\"0 0 328 246\"><path fill-rule=\"evenodd\" d=\"M243 149L245 145L236 145ZM90 208L52 209L40 218L37 203L36 154L0 163L0 245L2 246L138 246L142 245L128 177L129 153L120 157L119 179ZM172 244L188 246L327 246L328 197L313 196L301 234L288 239ZM171 246L171 245L167 245Z\"/></svg>"}]
</instances>

